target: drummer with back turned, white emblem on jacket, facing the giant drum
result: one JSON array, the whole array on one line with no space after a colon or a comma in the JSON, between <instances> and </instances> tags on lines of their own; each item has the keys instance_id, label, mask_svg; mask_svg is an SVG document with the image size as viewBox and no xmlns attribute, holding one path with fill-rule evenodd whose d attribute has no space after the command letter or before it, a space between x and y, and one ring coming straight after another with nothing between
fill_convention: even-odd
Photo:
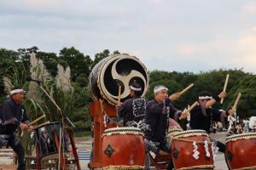
<instances>
[{"instance_id":1,"label":"drummer with back turned, white emblem on jacket, facing the giant drum","mask_svg":"<svg viewBox=\"0 0 256 170\"><path fill-rule=\"evenodd\" d=\"M131 99L126 99L118 106L118 116L124 118L124 127L138 127L145 130L144 117L146 115L147 100L142 98L143 88L134 81L130 86Z\"/></svg>"}]
</instances>

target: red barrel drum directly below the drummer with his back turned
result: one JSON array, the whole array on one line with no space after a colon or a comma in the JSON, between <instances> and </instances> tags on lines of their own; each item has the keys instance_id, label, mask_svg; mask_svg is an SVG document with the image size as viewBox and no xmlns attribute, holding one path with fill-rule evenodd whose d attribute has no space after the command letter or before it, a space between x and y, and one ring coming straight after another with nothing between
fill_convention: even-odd
<instances>
[{"instance_id":1,"label":"red barrel drum directly below the drummer with his back turned","mask_svg":"<svg viewBox=\"0 0 256 170\"><path fill-rule=\"evenodd\" d=\"M102 138L102 164L105 169L143 169L145 145L139 128L108 128Z\"/></svg>"}]
</instances>

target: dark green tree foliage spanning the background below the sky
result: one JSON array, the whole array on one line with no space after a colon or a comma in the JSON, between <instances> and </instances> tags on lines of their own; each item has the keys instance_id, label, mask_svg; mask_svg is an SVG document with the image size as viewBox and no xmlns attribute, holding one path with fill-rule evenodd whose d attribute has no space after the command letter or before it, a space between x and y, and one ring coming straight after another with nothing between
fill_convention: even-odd
<instances>
[{"instance_id":1,"label":"dark green tree foliage spanning the background below the sky","mask_svg":"<svg viewBox=\"0 0 256 170\"><path fill-rule=\"evenodd\" d=\"M30 72L30 54L36 54L38 59L44 61L44 65L49 71L50 77L57 75L57 65L63 65L64 69L67 66L71 69L71 84L73 90L68 95L61 94L62 92L55 88L55 79L49 80L47 86L49 92L55 97L56 102L61 105L65 114L77 125L79 130L90 128L90 115L88 111L88 103L92 101L88 90L88 77L93 66L100 60L108 57L110 54L120 54L119 51L111 53L108 49L95 54L93 58L83 54L74 47L62 48L59 54L41 51L38 47L19 48L17 50L9 50L0 48L0 100L5 99L3 87L3 77L11 77L15 85L28 87L26 76ZM207 90L216 96L221 92L224 86L226 74L230 74L230 81L227 88L227 97L224 99L224 105L217 104L216 107L228 109L235 102L236 95L241 93L241 101L237 111L239 116L252 116L256 112L256 77L253 74L242 70L214 70L195 74L193 72L177 72L177 71L150 71L149 89L146 94L147 99L153 99L153 88L155 85L163 84L170 89L170 94L183 90L194 83L195 86L175 102L179 109L183 109L187 105L191 105L198 98L198 94L202 90ZM68 101L68 102L65 102ZM34 107L32 101L29 110ZM48 100L45 105L49 108L54 108L54 105ZM44 106L42 107L44 110ZM38 112L37 109L35 112ZM55 114L57 111L52 109ZM54 115L56 116L56 115ZM52 120L55 120L52 117Z\"/></svg>"}]
</instances>

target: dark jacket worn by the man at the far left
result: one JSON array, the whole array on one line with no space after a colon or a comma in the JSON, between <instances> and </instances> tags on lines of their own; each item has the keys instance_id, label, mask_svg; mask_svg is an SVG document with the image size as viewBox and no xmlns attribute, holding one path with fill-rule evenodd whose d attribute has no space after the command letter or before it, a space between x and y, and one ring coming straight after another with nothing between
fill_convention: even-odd
<instances>
[{"instance_id":1,"label":"dark jacket worn by the man at the far left","mask_svg":"<svg viewBox=\"0 0 256 170\"><path fill-rule=\"evenodd\" d=\"M0 134L13 134L20 126L20 122L28 123L24 106L16 104L13 99L4 101L0 107L0 119Z\"/></svg>"}]
</instances>

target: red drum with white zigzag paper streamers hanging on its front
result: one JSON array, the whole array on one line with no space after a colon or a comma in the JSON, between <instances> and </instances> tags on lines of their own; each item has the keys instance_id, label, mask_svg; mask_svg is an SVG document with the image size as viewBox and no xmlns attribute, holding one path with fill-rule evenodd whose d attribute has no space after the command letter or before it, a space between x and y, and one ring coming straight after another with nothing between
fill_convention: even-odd
<instances>
[{"instance_id":1,"label":"red drum with white zigzag paper streamers hanging on its front","mask_svg":"<svg viewBox=\"0 0 256 170\"><path fill-rule=\"evenodd\" d=\"M175 169L213 169L212 142L204 130L175 133L172 139Z\"/></svg>"}]
</instances>

